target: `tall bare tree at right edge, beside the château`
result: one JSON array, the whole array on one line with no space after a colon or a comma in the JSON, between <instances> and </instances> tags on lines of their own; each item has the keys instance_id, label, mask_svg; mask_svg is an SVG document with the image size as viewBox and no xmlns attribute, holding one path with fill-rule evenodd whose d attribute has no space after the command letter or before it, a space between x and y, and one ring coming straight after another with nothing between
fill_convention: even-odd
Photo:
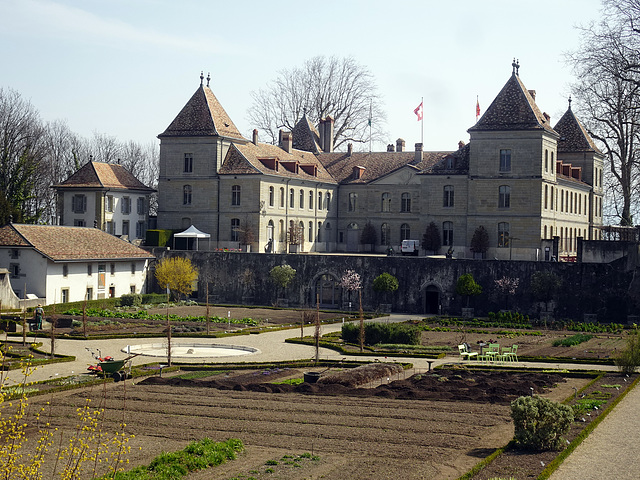
<instances>
[{"instance_id":1,"label":"tall bare tree at right edge, beside the ch\u00e2teau","mask_svg":"<svg viewBox=\"0 0 640 480\"><path fill-rule=\"evenodd\" d=\"M623 2L635 6L635 18L629 17L632 10L622 13L604 0L608 14L581 28L581 46L568 60L578 79L572 85L577 111L607 158L610 214L621 225L633 225L640 192L640 70L634 69L638 33L633 25L640 22L640 9L638 1Z\"/></svg>"}]
</instances>

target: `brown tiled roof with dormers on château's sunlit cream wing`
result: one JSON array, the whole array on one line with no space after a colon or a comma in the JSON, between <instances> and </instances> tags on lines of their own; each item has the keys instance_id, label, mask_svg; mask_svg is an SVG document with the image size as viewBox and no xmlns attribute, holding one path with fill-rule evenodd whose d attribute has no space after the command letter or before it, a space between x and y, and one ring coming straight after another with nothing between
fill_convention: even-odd
<instances>
[{"instance_id":1,"label":"brown tiled roof with dormers on ch\u00e2teau's sunlit cream wing","mask_svg":"<svg viewBox=\"0 0 640 480\"><path fill-rule=\"evenodd\" d=\"M260 159L277 159L280 166L278 170L275 171L261 162ZM297 172L291 172L281 164L282 162L298 162L299 165L315 165L317 167L317 176L307 173L302 168L298 168ZM302 180L318 180L336 183L313 153L296 149L292 149L291 153L287 153L282 148L267 143L258 143L257 145L253 142L231 144L218 173L220 175L277 175Z\"/></svg>"}]
</instances>

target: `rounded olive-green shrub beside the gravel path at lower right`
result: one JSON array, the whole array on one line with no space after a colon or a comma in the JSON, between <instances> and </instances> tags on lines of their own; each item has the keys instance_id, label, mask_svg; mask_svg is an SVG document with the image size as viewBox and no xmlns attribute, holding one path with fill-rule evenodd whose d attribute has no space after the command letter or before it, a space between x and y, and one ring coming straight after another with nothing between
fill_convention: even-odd
<instances>
[{"instance_id":1,"label":"rounded olive-green shrub beside the gravel path at lower right","mask_svg":"<svg viewBox=\"0 0 640 480\"><path fill-rule=\"evenodd\" d=\"M573 422L571 407L539 396L520 397L511 402L514 440L521 448L559 450L562 438Z\"/></svg>"}]
</instances>

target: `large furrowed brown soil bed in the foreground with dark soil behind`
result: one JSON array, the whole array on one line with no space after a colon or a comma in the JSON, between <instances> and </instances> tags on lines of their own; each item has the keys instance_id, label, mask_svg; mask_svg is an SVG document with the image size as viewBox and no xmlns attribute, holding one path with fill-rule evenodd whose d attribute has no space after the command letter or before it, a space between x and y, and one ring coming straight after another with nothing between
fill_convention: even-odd
<instances>
[{"instance_id":1,"label":"large furrowed brown soil bed in the foreground with dark soil behind","mask_svg":"<svg viewBox=\"0 0 640 480\"><path fill-rule=\"evenodd\" d=\"M283 369L268 375L156 376L135 385L108 384L106 393L85 389L47 398L54 402L48 421L69 431L76 408L87 398L94 404L106 398L105 428L117 429L124 409L127 431L136 435L132 464L148 463L162 450L204 437L244 442L239 459L192 479L450 479L511 439L511 400L530 394L531 388L559 400L570 385L580 388L588 381L550 373L448 369L372 388L270 383L301 375ZM275 474L266 472L266 460L304 452L320 460L298 470L278 470L281 465L274 467Z\"/></svg>"}]
</instances>

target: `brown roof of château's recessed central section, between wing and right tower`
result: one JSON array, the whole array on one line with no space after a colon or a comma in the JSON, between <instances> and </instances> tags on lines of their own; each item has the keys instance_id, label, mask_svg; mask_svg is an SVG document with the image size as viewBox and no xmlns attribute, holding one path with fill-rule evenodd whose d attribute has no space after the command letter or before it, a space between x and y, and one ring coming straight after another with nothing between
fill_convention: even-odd
<instances>
[{"instance_id":1,"label":"brown roof of ch\u00e2teau's recessed central section, between wing and right tower","mask_svg":"<svg viewBox=\"0 0 640 480\"><path fill-rule=\"evenodd\" d=\"M318 159L329 174L340 184L367 184L394 171L409 166L417 172L428 170L445 155L452 152L422 152L422 159L415 152L345 152L321 153ZM354 175L354 167L364 167L360 178Z\"/></svg>"}]
</instances>

